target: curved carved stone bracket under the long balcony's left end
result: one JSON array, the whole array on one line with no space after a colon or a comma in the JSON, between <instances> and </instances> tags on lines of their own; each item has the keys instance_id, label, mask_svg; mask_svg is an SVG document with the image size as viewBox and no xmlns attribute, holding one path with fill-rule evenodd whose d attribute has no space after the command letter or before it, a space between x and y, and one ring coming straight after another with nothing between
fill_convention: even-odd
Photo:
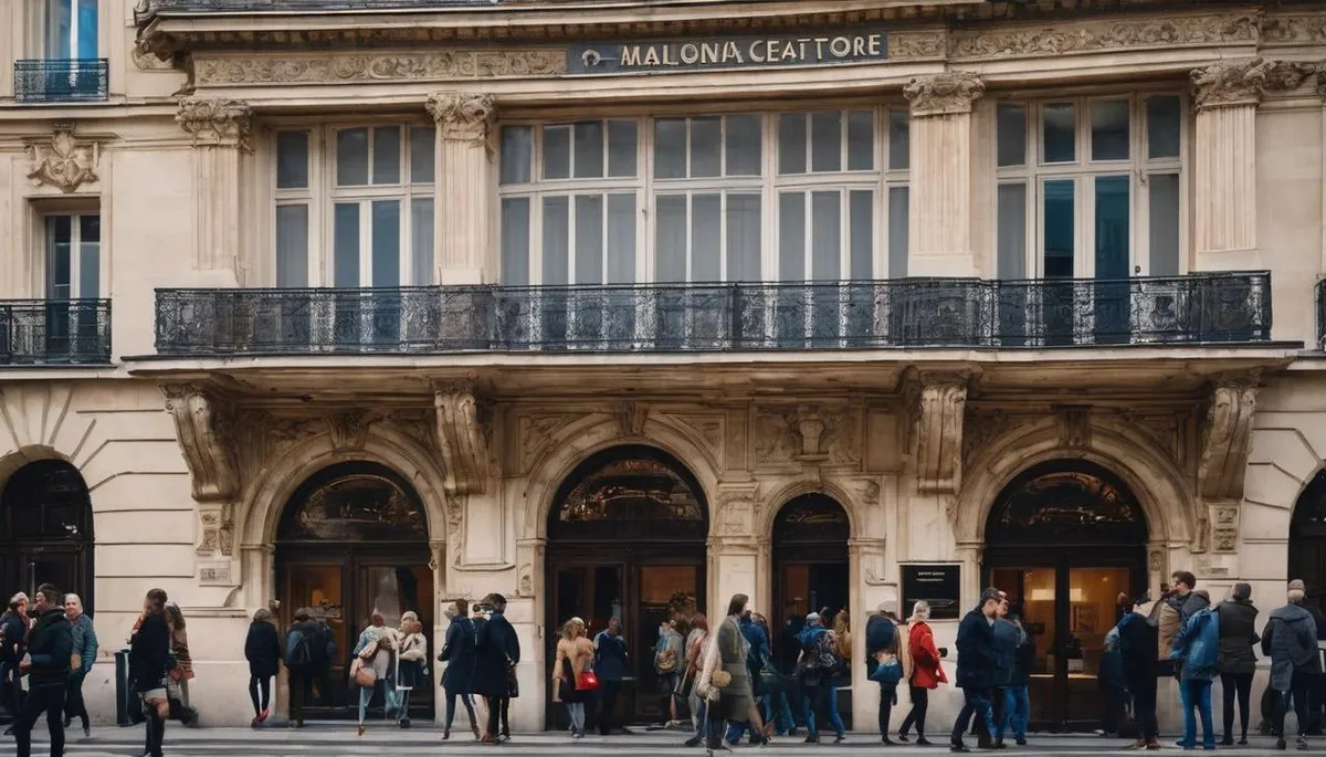
<instances>
[{"instance_id":1,"label":"curved carved stone bracket under the long balcony's left end","mask_svg":"<svg viewBox=\"0 0 1326 757\"><path fill-rule=\"evenodd\" d=\"M231 447L228 419L216 398L199 384L163 384L166 412L175 420L175 434L199 502L231 500L239 492L239 469Z\"/></svg>"}]
</instances>

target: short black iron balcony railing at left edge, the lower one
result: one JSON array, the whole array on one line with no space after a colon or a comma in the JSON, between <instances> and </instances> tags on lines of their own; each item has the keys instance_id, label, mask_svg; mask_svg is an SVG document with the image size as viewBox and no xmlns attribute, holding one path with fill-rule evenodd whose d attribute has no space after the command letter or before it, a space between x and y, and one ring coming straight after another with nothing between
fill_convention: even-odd
<instances>
[{"instance_id":1,"label":"short black iron balcony railing at left edge, the lower one","mask_svg":"<svg viewBox=\"0 0 1326 757\"><path fill-rule=\"evenodd\" d=\"M0 300L0 366L110 365L110 300Z\"/></svg>"}]
</instances>

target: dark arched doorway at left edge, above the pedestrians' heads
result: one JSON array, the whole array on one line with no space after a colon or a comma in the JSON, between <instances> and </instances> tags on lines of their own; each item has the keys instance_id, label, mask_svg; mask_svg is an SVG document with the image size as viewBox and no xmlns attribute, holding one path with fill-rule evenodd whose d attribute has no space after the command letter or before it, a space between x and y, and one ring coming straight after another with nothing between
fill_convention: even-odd
<instances>
[{"instance_id":1,"label":"dark arched doorway at left edge, above the pedestrians' heads","mask_svg":"<svg viewBox=\"0 0 1326 757\"><path fill-rule=\"evenodd\" d=\"M19 589L30 597L54 583L93 612L91 498L78 469L64 460L25 464L5 481L0 510L5 601Z\"/></svg>"}]
</instances>

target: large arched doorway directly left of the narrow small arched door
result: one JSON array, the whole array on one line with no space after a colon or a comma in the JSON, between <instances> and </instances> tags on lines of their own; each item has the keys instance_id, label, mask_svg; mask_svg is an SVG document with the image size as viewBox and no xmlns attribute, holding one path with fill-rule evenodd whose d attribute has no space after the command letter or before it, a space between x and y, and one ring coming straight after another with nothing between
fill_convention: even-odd
<instances>
[{"instance_id":1,"label":"large arched doorway directly left of the narrow small arched door","mask_svg":"<svg viewBox=\"0 0 1326 757\"><path fill-rule=\"evenodd\" d=\"M630 650L617 723L666 720L654 656L670 606L705 607L709 513L695 476L671 455L644 445L605 449L572 472L548 514L548 675L561 624L583 618L589 632L622 622ZM546 679L545 679L546 680ZM554 728L561 707L549 708Z\"/></svg>"}]
</instances>

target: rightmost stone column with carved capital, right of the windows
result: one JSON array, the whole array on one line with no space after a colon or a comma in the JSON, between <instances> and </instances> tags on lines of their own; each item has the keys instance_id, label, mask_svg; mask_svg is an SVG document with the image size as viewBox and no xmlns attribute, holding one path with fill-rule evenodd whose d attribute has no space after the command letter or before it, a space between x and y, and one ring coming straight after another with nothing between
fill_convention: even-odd
<instances>
[{"instance_id":1,"label":"rightmost stone column with carved capital, right of the windows","mask_svg":"<svg viewBox=\"0 0 1326 757\"><path fill-rule=\"evenodd\" d=\"M1195 270L1256 270L1257 106L1270 89L1297 89L1310 66L1237 58L1192 72Z\"/></svg>"}]
</instances>

